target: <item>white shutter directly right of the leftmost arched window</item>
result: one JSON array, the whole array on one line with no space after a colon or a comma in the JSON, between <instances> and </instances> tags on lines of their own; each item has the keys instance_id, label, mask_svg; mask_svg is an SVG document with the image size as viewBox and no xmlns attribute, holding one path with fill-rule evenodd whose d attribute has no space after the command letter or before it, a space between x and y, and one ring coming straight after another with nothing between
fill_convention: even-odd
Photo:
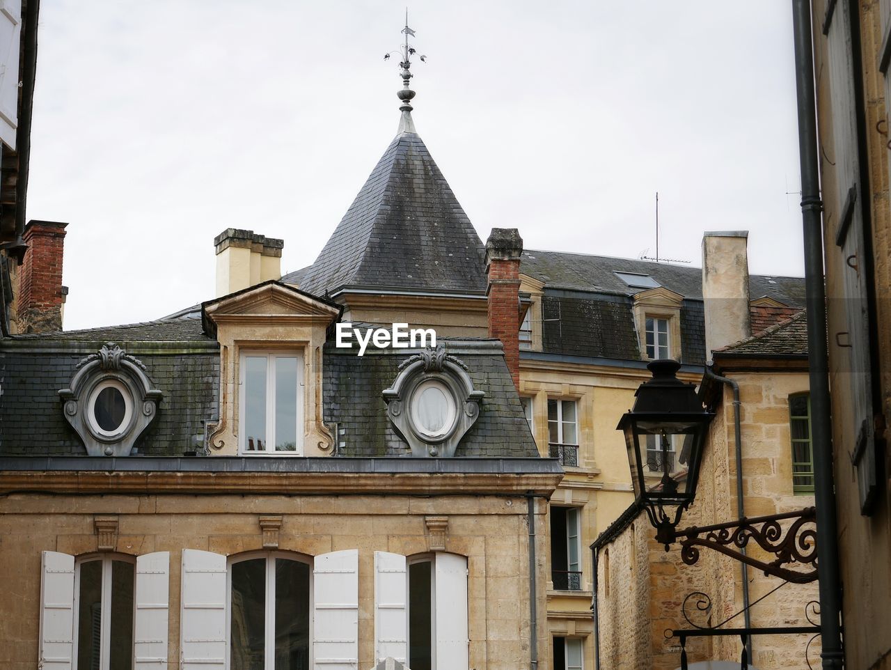
<instances>
[{"instance_id":1,"label":"white shutter directly right of the leftmost arched window","mask_svg":"<svg viewBox=\"0 0 891 670\"><path fill-rule=\"evenodd\" d=\"M136 557L135 670L166 670L170 552Z\"/></svg>"}]
</instances>

